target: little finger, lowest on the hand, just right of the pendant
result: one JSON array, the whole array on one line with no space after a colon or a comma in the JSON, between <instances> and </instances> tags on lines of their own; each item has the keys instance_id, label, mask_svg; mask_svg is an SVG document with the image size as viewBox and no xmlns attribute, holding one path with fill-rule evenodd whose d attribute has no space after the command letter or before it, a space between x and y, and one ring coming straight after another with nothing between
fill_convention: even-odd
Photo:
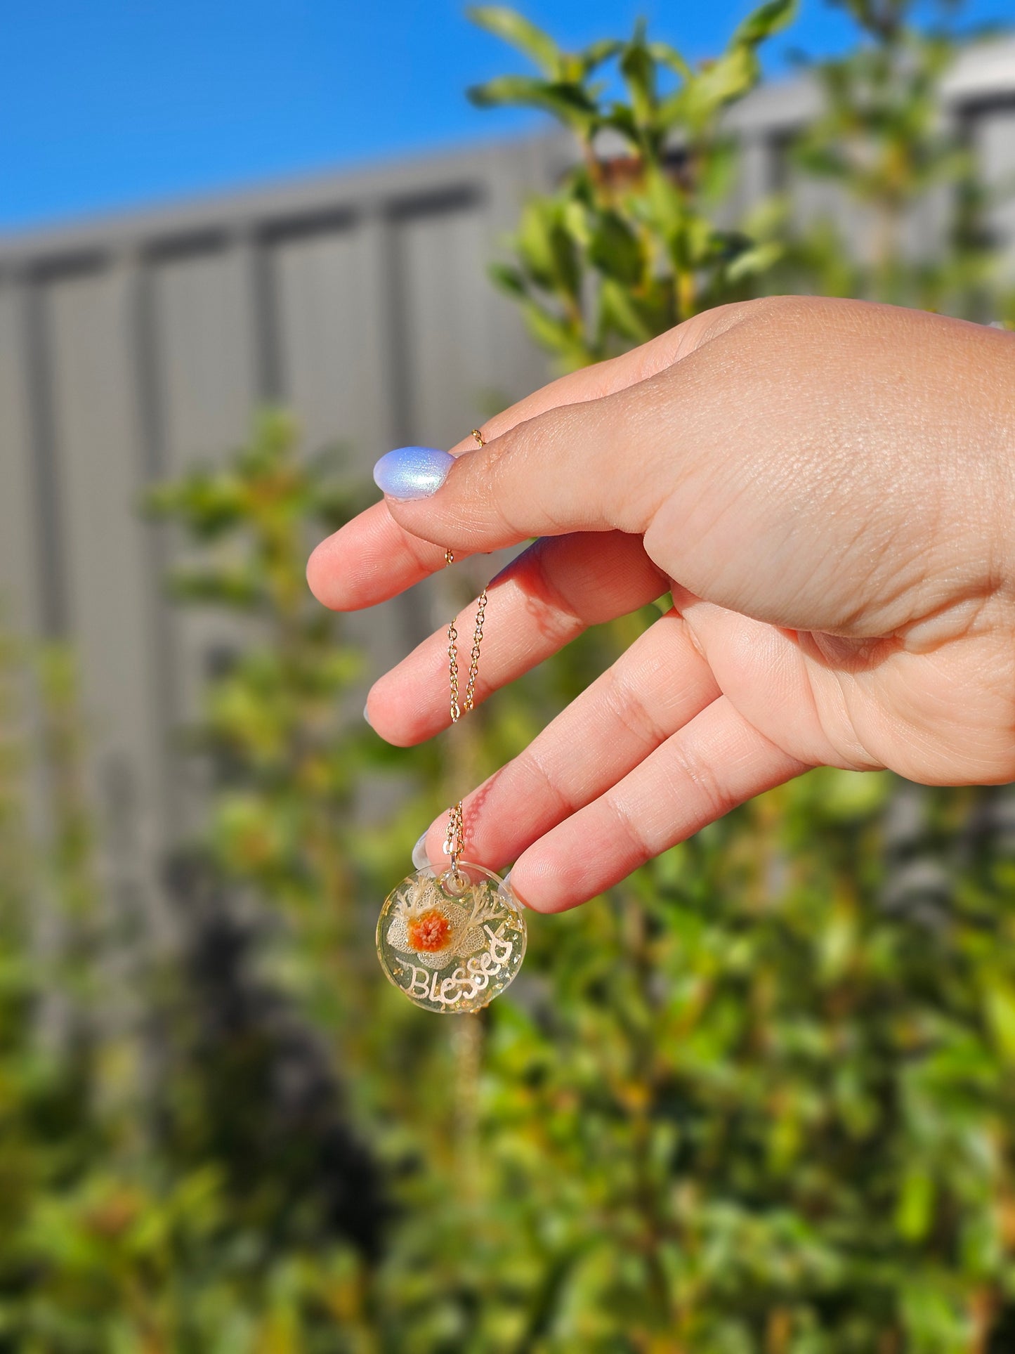
<instances>
[{"instance_id":1,"label":"little finger, lowest on the hand, just right of the pendant","mask_svg":"<svg viewBox=\"0 0 1015 1354\"><path fill-rule=\"evenodd\" d=\"M720 696L605 795L524 852L512 887L540 913L575 907L807 769Z\"/></svg>"}]
</instances>

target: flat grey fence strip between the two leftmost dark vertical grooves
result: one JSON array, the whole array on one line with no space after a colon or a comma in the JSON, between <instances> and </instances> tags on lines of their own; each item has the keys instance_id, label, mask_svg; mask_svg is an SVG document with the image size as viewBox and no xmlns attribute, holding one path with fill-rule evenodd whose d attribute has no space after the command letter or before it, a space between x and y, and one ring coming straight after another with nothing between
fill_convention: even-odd
<instances>
[{"instance_id":1,"label":"flat grey fence strip between the two leftmost dark vertical grooves","mask_svg":"<svg viewBox=\"0 0 1015 1354\"><path fill-rule=\"evenodd\" d=\"M125 911L154 895L165 822L150 546L138 517L131 288L123 268L49 282L55 531L64 624L74 636L106 846L104 898Z\"/></svg>"}]
</instances>

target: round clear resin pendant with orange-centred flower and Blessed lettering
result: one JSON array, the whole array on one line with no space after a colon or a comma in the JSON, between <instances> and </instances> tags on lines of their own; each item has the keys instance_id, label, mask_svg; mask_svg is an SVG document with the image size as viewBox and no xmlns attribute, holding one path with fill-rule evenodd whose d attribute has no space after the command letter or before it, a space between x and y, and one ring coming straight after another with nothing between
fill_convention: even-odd
<instances>
[{"instance_id":1,"label":"round clear resin pendant with orange-centred flower and Blessed lettering","mask_svg":"<svg viewBox=\"0 0 1015 1354\"><path fill-rule=\"evenodd\" d=\"M378 918L380 967L410 1002L464 1016L508 987L525 956L525 917L482 865L428 865L403 879Z\"/></svg>"}]
</instances>

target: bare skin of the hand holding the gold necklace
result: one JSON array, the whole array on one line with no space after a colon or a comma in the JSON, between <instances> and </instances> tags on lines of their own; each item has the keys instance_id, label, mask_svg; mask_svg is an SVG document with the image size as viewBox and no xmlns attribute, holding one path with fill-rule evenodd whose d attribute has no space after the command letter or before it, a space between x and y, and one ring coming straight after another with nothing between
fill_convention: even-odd
<instances>
[{"instance_id":1,"label":"bare skin of the hand holding the gold necklace","mask_svg":"<svg viewBox=\"0 0 1015 1354\"><path fill-rule=\"evenodd\" d=\"M445 547L539 538L490 588L479 700L673 590L466 800L470 858L516 860L528 906L574 907L811 766L1015 780L1011 334L857 301L720 306L483 435L433 497L384 500L318 546L307 578L353 611ZM433 737L445 686L441 630L374 685L374 728Z\"/></svg>"}]
</instances>

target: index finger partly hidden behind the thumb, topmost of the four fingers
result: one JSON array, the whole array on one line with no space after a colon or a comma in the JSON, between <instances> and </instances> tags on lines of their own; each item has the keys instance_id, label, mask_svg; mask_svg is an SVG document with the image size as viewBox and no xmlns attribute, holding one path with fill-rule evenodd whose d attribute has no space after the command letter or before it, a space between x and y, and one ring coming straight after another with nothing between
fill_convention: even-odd
<instances>
[{"instance_id":1,"label":"index finger partly hidden behind the thumb, topmost of the four fingers","mask_svg":"<svg viewBox=\"0 0 1015 1354\"><path fill-rule=\"evenodd\" d=\"M483 425L487 443L503 437L513 428L566 405L600 401L616 391L646 380L669 368L685 352L693 351L704 336L729 326L743 306L720 306L702 315L694 315L669 333L643 344L633 352L585 367L535 391L525 399ZM475 452L470 436L452 448L455 455ZM424 501L426 506L430 500ZM399 512L395 505L395 512ZM421 525L426 513L417 515ZM399 524L401 523L401 524ZM512 543L526 536L556 535L532 531L514 536ZM434 544L436 542L436 544ZM323 540L310 556L307 582L314 596L334 611L355 611L386 601L444 565L444 548L455 546L456 554L467 552L464 540L444 539L440 535L418 533L411 523L391 516L388 502L375 504L346 523L333 536ZM479 550L494 547L479 544Z\"/></svg>"}]
</instances>

